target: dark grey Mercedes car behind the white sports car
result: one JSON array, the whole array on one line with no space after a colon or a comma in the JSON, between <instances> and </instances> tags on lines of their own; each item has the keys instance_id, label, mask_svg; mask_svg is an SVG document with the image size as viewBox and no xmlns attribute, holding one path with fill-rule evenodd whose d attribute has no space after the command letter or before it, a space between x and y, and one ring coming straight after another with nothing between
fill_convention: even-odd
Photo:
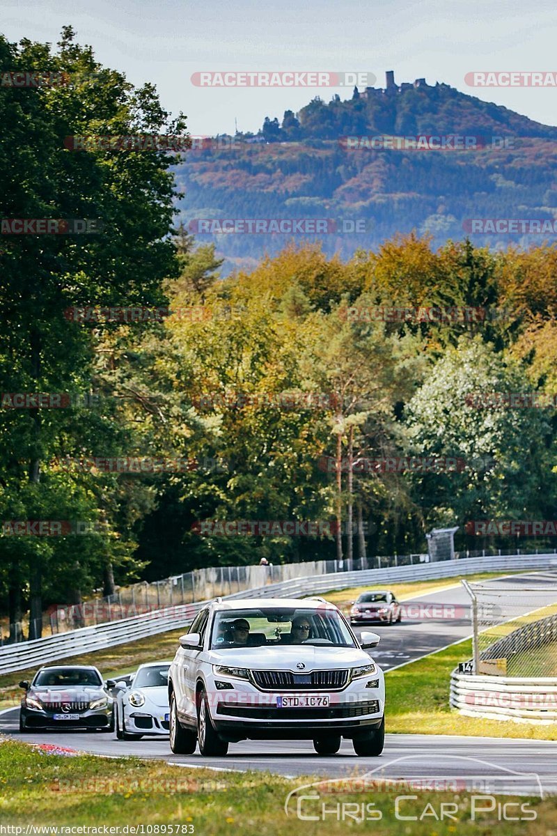
<instances>
[{"instance_id":1,"label":"dark grey Mercedes car behind the white sports car","mask_svg":"<svg viewBox=\"0 0 557 836\"><path fill-rule=\"evenodd\" d=\"M56 665L40 668L31 683L19 683L25 696L19 710L19 731L86 728L114 731L114 699L92 665Z\"/></svg>"}]
</instances>

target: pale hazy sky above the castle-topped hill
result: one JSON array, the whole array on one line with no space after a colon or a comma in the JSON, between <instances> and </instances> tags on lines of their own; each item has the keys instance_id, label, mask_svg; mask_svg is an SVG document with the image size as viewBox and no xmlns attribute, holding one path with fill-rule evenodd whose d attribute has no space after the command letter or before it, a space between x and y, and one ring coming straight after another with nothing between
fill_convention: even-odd
<instances>
[{"instance_id":1,"label":"pale hazy sky above the castle-topped hill","mask_svg":"<svg viewBox=\"0 0 557 836\"><path fill-rule=\"evenodd\" d=\"M557 70L554 0L10 0L0 31L56 43L64 24L102 64L134 84L152 81L163 104L183 110L192 134L257 130L266 115L299 110L344 89L215 89L191 84L196 71L368 71L384 86L425 77L557 124L557 88L477 89L472 70Z\"/></svg>"}]
</instances>

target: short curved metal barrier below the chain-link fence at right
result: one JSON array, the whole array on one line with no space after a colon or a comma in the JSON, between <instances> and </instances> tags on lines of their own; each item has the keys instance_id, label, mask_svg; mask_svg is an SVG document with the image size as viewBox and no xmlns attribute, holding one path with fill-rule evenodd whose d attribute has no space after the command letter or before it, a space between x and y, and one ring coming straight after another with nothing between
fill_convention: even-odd
<instances>
[{"instance_id":1,"label":"short curved metal barrier below the chain-link fence at right","mask_svg":"<svg viewBox=\"0 0 557 836\"><path fill-rule=\"evenodd\" d=\"M474 676L453 670L450 705L494 720L557 720L557 677Z\"/></svg>"}]
</instances>

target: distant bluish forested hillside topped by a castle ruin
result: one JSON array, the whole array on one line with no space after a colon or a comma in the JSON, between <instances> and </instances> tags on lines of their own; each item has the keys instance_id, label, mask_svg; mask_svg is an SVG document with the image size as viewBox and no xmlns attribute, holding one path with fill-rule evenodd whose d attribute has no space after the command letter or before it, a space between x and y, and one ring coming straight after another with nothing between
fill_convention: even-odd
<instances>
[{"instance_id":1,"label":"distant bluish forested hillside topped by a castle ruin","mask_svg":"<svg viewBox=\"0 0 557 836\"><path fill-rule=\"evenodd\" d=\"M399 150L377 147L381 142L371 140L379 135L457 135L460 145L465 140L472 147L461 150L457 140L453 150ZM347 137L352 148L347 148ZM325 234L304 232L303 237L320 238L326 252L344 257L413 229L429 232L438 246L448 238L463 238L470 219L553 221L556 140L557 128L447 84L429 86L417 79L398 87L391 76L385 89L355 91L345 101L334 96L328 104L316 98L297 115L286 111L281 123L267 118L256 137L237 135L213 148L190 151L178 170L185 190L181 217L185 222L328 219ZM475 244L500 248L509 242L528 247L554 236L518 230L474 232L471 237ZM199 235L200 241L216 242L229 271L263 252L277 252L289 238L249 232Z\"/></svg>"}]
</instances>

